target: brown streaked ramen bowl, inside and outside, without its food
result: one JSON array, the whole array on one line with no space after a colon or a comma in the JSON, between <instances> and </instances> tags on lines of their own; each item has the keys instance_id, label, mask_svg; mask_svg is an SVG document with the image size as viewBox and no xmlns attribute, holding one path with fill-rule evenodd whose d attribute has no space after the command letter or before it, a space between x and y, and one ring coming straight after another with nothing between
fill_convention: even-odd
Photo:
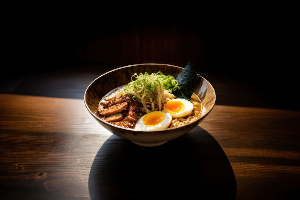
<instances>
[{"instance_id":1,"label":"brown streaked ramen bowl, inside and outside, without its food","mask_svg":"<svg viewBox=\"0 0 300 200\"><path fill-rule=\"evenodd\" d=\"M200 83L194 90L194 93L199 97L202 104L202 112L199 117L184 126L176 128L166 128L162 130L140 131L131 128L124 128L110 124L97 114L100 100L110 91L117 87L127 84L131 81L131 76L134 73L156 73L161 71L165 75L176 77L182 70L182 67L170 64L134 64L125 67L120 67L102 74L95 79L85 91L84 103L88 112L101 124L105 129L113 134L128 139L131 142L151 147L158 146L168 142L171 139L182 136L195 128L213 109L216 102L216 93L212 85L203 77Z\"/></svg>"}]
</instances>

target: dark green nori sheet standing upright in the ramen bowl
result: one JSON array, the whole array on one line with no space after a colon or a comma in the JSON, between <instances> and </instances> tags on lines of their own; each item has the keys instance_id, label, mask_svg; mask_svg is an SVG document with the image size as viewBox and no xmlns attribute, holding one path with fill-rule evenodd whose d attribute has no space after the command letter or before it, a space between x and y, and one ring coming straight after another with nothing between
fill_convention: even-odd
<instances>
[{"instance_id":1,"label":"dark green nori sheet standing upright in the ramen bowl","mask_svg":"<svg viewBox=\"0 0 300 200\"><path fill-rule=\"evenodd\" d=\"M186 99L190 101L190 97L193 94L193 91L199 85L201 80L201 74L197 74L192 63L188 61L182 71L176 77L178 81L179 90L173 91L173 94L177 98Z\"/></svg>"}]
</instances>

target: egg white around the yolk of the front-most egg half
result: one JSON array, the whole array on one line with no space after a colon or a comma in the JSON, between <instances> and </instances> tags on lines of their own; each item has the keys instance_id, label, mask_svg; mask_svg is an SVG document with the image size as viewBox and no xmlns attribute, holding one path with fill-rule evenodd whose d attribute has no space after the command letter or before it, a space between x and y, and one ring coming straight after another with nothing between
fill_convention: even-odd
<instances>
[{"instance_id":1,"label":"egg white around the yolk of the front-most egg half","mask_svg":"<svg viewBox=\"0 0 300 200\"><path fill-rule=\"evenodd\" d=\"M157 112L162 112L162 111L157 111ZM150 113L151 112L149 112L146 115L149 115ZM167 113L167 112L162 112L162 113L165 115L165 118L161 123L156 124L155 126L146 126L143 123L143 119L146 116L146 115L144 115L135 124L135 129L147 131L147 130L161 130L161 129L165 129L165 128L169 127L169 125L171 124L171 121L172 121L172 116L170 115L170 113Z\"/></svg>"}]
</instances>

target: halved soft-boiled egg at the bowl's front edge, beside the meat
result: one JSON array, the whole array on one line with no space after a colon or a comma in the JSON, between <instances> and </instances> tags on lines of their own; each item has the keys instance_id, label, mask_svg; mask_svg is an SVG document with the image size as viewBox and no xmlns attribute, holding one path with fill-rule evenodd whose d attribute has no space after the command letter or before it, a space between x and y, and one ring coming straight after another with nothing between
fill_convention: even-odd
<instances>
[{"instance_id":1,"label":"halved soft-boiled egg at the bowl's front edge, beside the meat","mask_svg":"<svg viewBox=\"0 0 300 200\"><path fill-rule=\"evenodd\" d=\"M135 125L136 130L160 130L169 127L172 116L162 111L153 111L141 117Z\"/></svg>"}]
</instances>

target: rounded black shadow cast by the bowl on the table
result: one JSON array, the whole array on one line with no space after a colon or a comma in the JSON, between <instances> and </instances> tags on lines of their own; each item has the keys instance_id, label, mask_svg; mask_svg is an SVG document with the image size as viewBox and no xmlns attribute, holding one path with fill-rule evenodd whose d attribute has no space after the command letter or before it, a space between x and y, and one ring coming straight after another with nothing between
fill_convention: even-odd
<instances>
[{"instance_id":1,"label":"rounded black shadow cast by the bowl on the table","mask_svg":"<svg viewBox=\"0 0 300 200\"><path fill-rule=\"evenodd\" d=\"M102 145L88 180L92 199L235 199L231 165L204 129L158 147L112 135Z\"/></svg>"}]
</instances>

